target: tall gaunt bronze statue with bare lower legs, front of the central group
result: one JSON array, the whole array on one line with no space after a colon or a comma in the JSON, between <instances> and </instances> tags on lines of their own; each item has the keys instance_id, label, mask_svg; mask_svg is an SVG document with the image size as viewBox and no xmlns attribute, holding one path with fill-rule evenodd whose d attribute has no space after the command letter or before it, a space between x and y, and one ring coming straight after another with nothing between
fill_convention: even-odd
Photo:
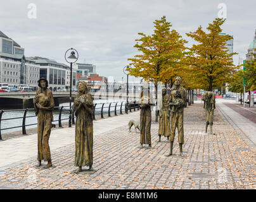
<instances>
[{"instance_id":1,"label":"tall gaunt bronze statue with bare lower legs, front of the central group","mask_svg":"<svg viewBox=\"0 0 256 202\"><path fill-rule=\"evenodd\" d=\"M181 77L177 76L174 86L170 90L170 103L172 117L170 127L170 153L174 145L175 130L178 129L179 155L182 157L182 145L184 144L183 110L186 106L186 90L181 86Z\"/></svg>"}]
</instances>

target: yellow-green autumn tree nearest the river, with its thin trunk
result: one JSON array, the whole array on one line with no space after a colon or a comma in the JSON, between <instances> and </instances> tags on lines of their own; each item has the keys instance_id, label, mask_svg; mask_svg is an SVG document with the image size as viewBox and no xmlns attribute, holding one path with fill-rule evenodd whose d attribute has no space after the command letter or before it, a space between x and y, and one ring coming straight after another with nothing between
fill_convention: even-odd
<instances>
[{"instance_id":1,"label":"yellow-green autumn tree nearest the river, with its thin trunk","mask_svg":"<svg viewBox=\"0 0 256 202\"><path fill-rule=\"evenodd\" d=\"M172 25L165 16L153 23L155 30L152 35L138 33L141 38L135 40L134 47L140 54L128 60L133 66L129 68L129 74L154 83L157 100L158 81L167 84L174 79L175 69L181 67L186 40L176 30L170 30Z\"/></svg>"}]
</instances>

